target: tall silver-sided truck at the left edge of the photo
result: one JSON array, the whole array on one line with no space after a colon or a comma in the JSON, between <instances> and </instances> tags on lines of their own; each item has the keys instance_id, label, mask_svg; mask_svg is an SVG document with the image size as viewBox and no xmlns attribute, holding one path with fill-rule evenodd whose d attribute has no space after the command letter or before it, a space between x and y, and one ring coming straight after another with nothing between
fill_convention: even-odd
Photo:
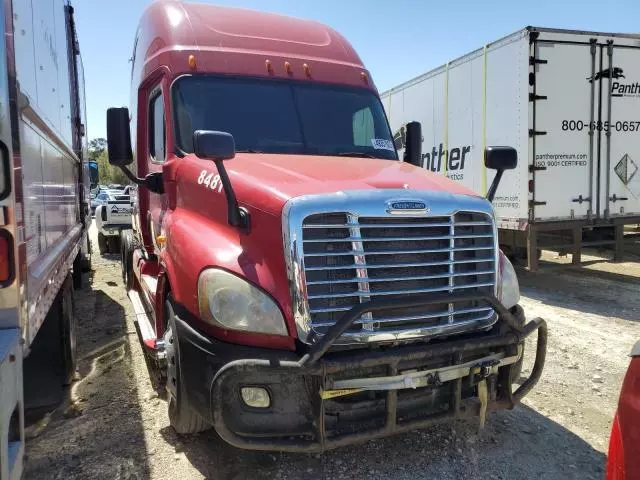
<instances>
[{"instance_id":1,"label":"tall silver-sided truck at the left edge of the photo","mask_svg":"<svg viewBox=\"0 0 640 480\"><path fill-rule=\"evenodd\" d=\"M36 5L37 3L37 5ZM0 2L0 479L18 479L25 411L75 372L73 287L90 268L84 74L67 0Z\"/></svg>"}]
</instances>

